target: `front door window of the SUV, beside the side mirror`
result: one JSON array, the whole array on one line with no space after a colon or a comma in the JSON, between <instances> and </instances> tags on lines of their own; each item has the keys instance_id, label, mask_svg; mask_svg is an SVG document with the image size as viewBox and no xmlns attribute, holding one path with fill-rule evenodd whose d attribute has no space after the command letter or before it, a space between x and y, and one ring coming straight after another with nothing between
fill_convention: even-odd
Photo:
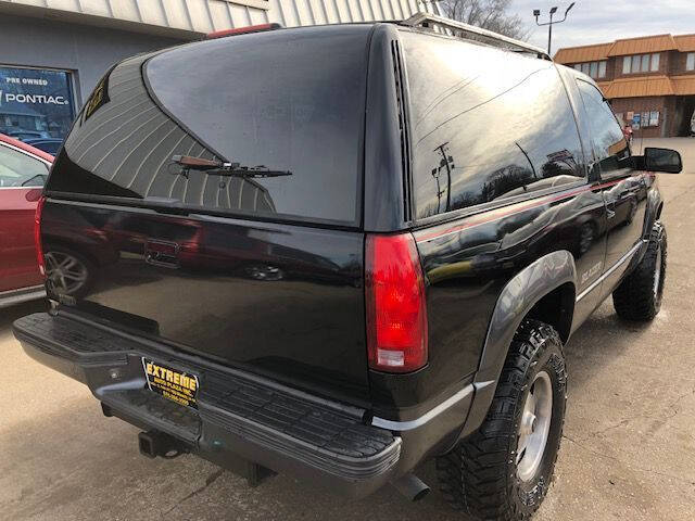
<instances>
[{"instance_id":1,"label":"front door window of the SUV, beside the side mirror","mask_svg":"<svg viewBox=\"0 0 695 521\"><path fill-rule=\"evenodd\" d=\"M593 85L577 80L584 103L586 119L593 142L594 158L602 175L619 175L628 168L630 150L618 120L604 101L604 96Z\"/></svg>"}]
</instances>

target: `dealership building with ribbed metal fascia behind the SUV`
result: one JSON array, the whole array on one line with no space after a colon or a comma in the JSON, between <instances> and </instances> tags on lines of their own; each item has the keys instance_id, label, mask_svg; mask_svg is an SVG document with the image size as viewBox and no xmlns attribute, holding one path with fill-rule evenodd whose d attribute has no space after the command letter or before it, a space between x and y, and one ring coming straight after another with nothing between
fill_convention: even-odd
<instances>
[{"instance_id":1,"label":"dealership building with ribbed metal fascia behind the SUV","mask_svg":"<svg viewBox=\"0 0 695 521\"><path fill-rule=\"evenodd\" d=\"M0 132L63 139L115 62L249 25L407 18L422 0L0 0Z\"/></svg>"}]
</instances>

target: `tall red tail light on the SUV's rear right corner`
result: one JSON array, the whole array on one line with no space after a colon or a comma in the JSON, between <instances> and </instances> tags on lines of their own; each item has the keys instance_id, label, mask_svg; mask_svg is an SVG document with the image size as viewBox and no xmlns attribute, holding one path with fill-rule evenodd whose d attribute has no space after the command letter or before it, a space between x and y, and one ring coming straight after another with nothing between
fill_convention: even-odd
<instances>
[{"instance_id":1,"label":"tall red tail light on the SUV's rear right corner","mask_svg":"<svg viewBox=\"0 0 695 521\"><path fill-rule=\"evenodd\" d=\"M409 372L427 364L425 278L410 233L367 236L369 367Z\"/></svg>"}]
</instances>

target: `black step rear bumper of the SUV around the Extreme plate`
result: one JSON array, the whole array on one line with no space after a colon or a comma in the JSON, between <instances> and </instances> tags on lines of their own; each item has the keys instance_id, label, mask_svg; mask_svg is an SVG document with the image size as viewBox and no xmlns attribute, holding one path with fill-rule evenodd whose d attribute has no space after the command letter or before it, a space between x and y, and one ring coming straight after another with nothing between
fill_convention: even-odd
<instances>
[{"instance_id":1,"label":"black step rear bumper of the SUV around the Extreme plate","mask_svg":"<svg viewBox=\"0 0 695 521\"><path fill-rule=\"evenodd\" d=\"M175 436L223 467L233 470L241 457L352 497L404 471L402 437L367 424L363 409L203 359L184 360L166 346L76 317L35 314L13 330L30 357L88 385L104 410ZM142 357L198 374L198 410L146 389Z\"/></svg>"}]
</instances>

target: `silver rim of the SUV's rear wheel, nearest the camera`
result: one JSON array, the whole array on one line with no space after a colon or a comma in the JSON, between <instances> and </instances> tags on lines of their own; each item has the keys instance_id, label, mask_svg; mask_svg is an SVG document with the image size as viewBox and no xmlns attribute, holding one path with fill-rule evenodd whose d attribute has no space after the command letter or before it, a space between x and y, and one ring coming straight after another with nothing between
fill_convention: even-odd
<instances>
[{"instance_id":1,"label":"silver rim of the SUV's rear wheel, nearest the camera","mask_svg":"<svg viewBox=\"0 0 695 521\"><path fill-rule=\"evenodd\" d=\"M517 475L530 481L536 473L551 430L553 418L553 384L546 371L540 371L527 394L517 442Z\"/></svg>"}]
</instances>

